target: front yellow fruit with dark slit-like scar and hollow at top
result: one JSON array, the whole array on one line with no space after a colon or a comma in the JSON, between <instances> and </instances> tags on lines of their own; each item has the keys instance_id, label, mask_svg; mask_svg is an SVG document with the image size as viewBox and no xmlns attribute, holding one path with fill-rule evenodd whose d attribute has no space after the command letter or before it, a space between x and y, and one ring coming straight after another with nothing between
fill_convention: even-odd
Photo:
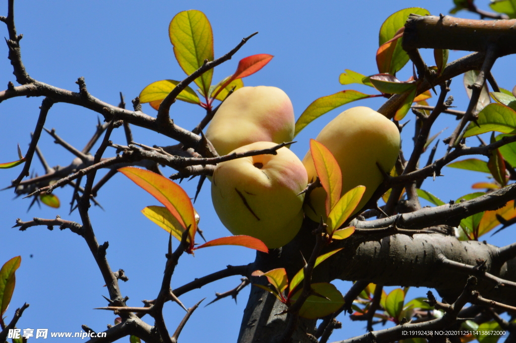
<instances>
[{"instance_id":1,"label":"front yellow fruit with dark slit-like scar and hollow at top","mask_svg":"<svg viewBox=\"0 0 516 343\"><path fill-rule=\"evenodd\" d=\"M272 142L255 142L233 152L267 149ZM277 155L257 155L217 165L212 178L212 201L222 224L234 235L262 240L268 248L291 241L303 220L307 171L286 147Z\"/></svg>"}]
</instances>

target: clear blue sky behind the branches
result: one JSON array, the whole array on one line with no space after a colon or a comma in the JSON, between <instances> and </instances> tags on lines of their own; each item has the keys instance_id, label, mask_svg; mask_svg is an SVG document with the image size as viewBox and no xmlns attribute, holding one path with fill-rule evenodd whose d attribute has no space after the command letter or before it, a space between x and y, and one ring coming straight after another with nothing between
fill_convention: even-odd
<instances>
[{"instance_id":1,"label":"clear blue sky behind the branches","mask_svg":"<svg viewBox=\"0 0 516 343\"><path fill-rule=\"evenodd\" d=\"M7 14L6 3L2 2L0 15ZM451 0L327 1L317 4L293 1L29 1L15 4L15 20L18 32L24 34L22 56L32 77L76 91L75 81L79 76L84 76L90 93L116 105L119 92L125 95L127 104L130 104L131 99L153 81L166 78L180 80L186 76L174 59L168 25L179 11L201 10L212 24L216 57L231 50L241 38L255 31L260 32L241 48L233 60L216 68L214 82L232 74L241 58L260 53L274 55L265 68L244 79L244 83L283 89L291 97L297 118L320 96L343 89L371 92L365 86L342 86L338 83L338 76L344 69L366 75L377 73L375 53L379 28L390 14L407 7L424 7L432 14L439 15L447 14L453 4ZM487 9L485 4L480 4L480 7ZM466 12L459 12L458 16L475 18ZM0 25L0 30L7 37L5 25ZM15 79L5 45L0 44L0 53L0 85L5 87L8 81L14 82ZM465 54L451 52L449 60ZM423 52L428 64L433 63L431 56L431 52ZM497 61L493 74L501 87L512 89L514 86L514 79L505 69L514 66L515 62L513 56ZM398 74L400 79L410 75L409 66ZM456 100L454 105L465 110L467 96L461 77L454 79L450 94ZM20 143L22 151L26 150L29 132L34 130L41 101L41 98L20 97L0 104L0 145L3 147L0 161L17 158L17 143ZM377 109L382 101L361 101L327 113L296 137L298 143L292 146L292 150L302 158L308 150L309 138L315 138L319 130L342 110L357 105ZM433 105L434 101L433 98L429 103ZM143 111L155 115L148 105L143 106ZM411 116L408 115L407 119ZM203 118L203 110L195 105L177 102L172 106L171 117L176 124L191 129ZM72 105L55 104L45 127L55 128L59 136L82 149L94 132L96 121L94 112ZM411 120L402 136L406 155L411 151L413 122ZM445 138L455 125L453 118L443 115L434 125L432 134L449 127L442 134L441 138ZM133 127L133 135L135 141L147 145L175 143L167 137L137 127ZM111 139L124 144L123 130L116 130ZM468 143L478 144L475 139L470 139ZM42 134L39 146L52 166L66 166L73 158L69 152L54 144L46 133ZM443 153L444 145L441 145L437 156ZM105 156L113 154L111 149ZM426 156L423 159L426 160ZM37 160L33 161L32 168L40 175L43 173ZM2 170L0 187L8 186L20 170L21 167ZM173 170L165 169L164 173L169 175ZM423 188L445 202L470 193L472 183L486 179L485 174L450 168L444 168L443 174L445 177L437 178L435 182L425 181ZM182 186L193 197L197 182L185 181ZM101 274L83 239L68 230L60 232L57 227L54 231L46 230L43 226L33 227L26 232L10 228L16 218L29 220L32 217L54 218L61 215L65 219L79 221L76 212L68 215L71 188L59 188L54 193L61 200L61 208L52 209L43 205L39 209L35 206L26 213L30 200L12 200L10 190L0 192L0 264L13 256L22 256L22 264L17 271L17 287L6 313L7 318L10 320L14 309L28 302L30 307L19 321L19 328L76 332L80 331L81 324L86 324L95 331L103 331L106 324L113 323L115 316L110 312L93 310L94 307L106 305L101 296L107 296L107 291L102 287ZM116 175L101 189L98 200L106 211L92 207L92 224L99 242L109 241L107 258L111 268L124 269L130 278L127 283L121 283L122 294L130 297L128 305L139 306L140 300L154 299L165 266L168 235L143 217L140 210L148 205L157 205L157 201L122 175ZM207 239L229 234L215 214L209 184L205 184L195 207L201 216L199 225ZM507 238L504 235L486 237L488 242L495 245L513 241L513 238ZM198 251L195 257L184 255L172 278L172 287L181 286L227 265L247 264L253 259L254 251L238 247L205 249ZM207 303L214 298L216 291L229 290L238 283L238 276L231 277L187 293L181 300L187 307L205 297ZM349 283L336 282L336 285L343 293L349 288ZM230 299L224 299L199 308L183 330L181 339L235 341L249 289L247 287L241 292L237 305ZM420 293L414 290L409 295ZM177 305L168 303L165 306L165 318L170 330L183 315L183 310ZM152 323L150 317L146 319ZM362 323L350 324L344 316L339 319L346 326L344 330L335 331L332 340L365 332Z\"/></svg>"}]
</instances>

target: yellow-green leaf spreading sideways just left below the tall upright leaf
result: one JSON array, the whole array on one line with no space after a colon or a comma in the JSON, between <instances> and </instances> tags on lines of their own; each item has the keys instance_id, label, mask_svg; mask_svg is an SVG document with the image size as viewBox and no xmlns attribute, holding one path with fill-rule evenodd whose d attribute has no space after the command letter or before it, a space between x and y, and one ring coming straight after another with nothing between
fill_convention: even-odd
<instances>
[{"instance_id":1,"label":"yellow-green leaf spreading sideways just left below the tall upright leaf","mask_svg":"<svg viewBox=\"0 0 516 343\"><path fill-rule=\"evenodd\" d=\"M179 84L179 81L176 80L161 80L153 82L149 86L143 88L143 90L140 92L140 103L151 103L152 108L158 109L159 104L162 103L163 99L167 97L168 93L170 93L177 84ZM181 91L176 99L191 104L201 103L197 93L189 86Z\"/></svg>"}]
</instances>

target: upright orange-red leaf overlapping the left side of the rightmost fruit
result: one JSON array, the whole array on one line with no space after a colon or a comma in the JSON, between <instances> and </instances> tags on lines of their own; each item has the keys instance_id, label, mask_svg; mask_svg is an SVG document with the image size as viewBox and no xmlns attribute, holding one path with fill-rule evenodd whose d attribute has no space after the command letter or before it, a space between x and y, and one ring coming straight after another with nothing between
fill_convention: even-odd
<instances>
[{"instance_id":1,"label":"upright orange-red leaf overlapping the left side of the rightmost fruit","mask_svg":"<svg viewBox=\"0 0 516 343\"><path fill-rule=\"evenodd\" d=\"M326 215L341 198L342 172L338 162L322 143L310 139L310 152L322 188L326 191Z\"/></svg>"}]
</instances>

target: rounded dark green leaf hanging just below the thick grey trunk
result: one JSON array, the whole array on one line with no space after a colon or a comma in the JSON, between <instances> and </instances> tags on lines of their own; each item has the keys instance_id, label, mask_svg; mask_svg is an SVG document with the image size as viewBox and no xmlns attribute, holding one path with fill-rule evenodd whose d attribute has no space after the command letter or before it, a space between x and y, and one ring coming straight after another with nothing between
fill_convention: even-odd
<instances>
[{"instance_id":1,"label":"rounded dark green leaf hanging just below the thick grey trunk","mask_svg":"<svg viewBox=\"0 0 516 343\"><path fill-rule=\"evenodd\" d=\"M311 286L316 293L325 298L317 295L308 297L299 310L300 317L308 319L326 317L329 314L338 311L338 309L344 305L344 297L332 284L321 282L312 284ZM300 289L294 294L294 296L292 296L292 303L296 302L302 291L303 290Z\"/></svg>"}]
</instances>

